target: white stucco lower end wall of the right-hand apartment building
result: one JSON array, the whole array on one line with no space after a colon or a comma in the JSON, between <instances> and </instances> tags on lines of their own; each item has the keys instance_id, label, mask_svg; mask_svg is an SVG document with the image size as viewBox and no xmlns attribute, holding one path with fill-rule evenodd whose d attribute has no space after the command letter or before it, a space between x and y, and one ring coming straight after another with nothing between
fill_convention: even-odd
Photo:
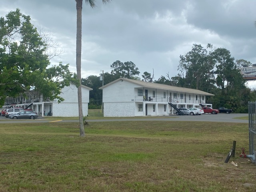
<instances>
[{"instance_id":1,"label":"white stucco lower end wall of the right-hand apartment building","mask_svg":"<svg viewBox=\"0 0 256 192\"><path fill-rule=\"evenodd\" d=\"M134 117L134 102L104 103L104 117Z\"/></svg>"}]
</instances>

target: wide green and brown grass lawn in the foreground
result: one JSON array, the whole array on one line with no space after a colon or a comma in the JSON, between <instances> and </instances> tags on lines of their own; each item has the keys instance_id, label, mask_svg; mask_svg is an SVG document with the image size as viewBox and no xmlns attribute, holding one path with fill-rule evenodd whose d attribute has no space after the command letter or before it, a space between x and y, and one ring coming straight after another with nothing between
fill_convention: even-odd
<instances>
[{"instance_id":1,"label":"wide green and brown grass lawn in the foreground","mask_svg":"<svg viewBox=\"0 0 256 192\"><path fill-rule=\"evenodd\" d=\"M36 121L36 120L35 120ZM248 124L0 124L2 192L255 192ZM233 141L236 154L224 163Z\"/></svg>"}]
</instances>

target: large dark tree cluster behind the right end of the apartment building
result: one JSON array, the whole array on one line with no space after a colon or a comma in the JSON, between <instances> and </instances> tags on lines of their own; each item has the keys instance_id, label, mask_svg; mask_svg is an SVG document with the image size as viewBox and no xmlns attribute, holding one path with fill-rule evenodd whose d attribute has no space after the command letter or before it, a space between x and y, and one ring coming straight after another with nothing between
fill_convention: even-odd
<instances>
[{"instance_id":1,"label":"large dark tree cluster behind the right end of the apartment building","mask_svg":"<svg viewBox=\"0 0 256 192\"><path fill-rule=\"evenodd\" d=\"M243 59L235 63L230 51L225 48L213 49L208 44L205 49L194 44L190 52L180 56L181 74L175 77L176 85L190 83L191 88L214 94L214 97L206 97L214 108L225 106L234 111L245 111L251 93L240 74L242 66L251 66L251 63ZM184 73L185 76L182 76Z\"/></svg>"}]
</instances>

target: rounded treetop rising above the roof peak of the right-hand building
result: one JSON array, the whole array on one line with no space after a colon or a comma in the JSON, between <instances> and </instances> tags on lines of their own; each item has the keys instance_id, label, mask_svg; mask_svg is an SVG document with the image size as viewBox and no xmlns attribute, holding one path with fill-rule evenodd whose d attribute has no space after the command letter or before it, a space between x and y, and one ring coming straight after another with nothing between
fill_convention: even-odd
<instances>
[{"instance_id":1,"label":"rounded treetop rising above the roof peak of the right-hand building","mask_svg":"<svg viewBox=\"0 0 256 192\"><path fill-rule=\"evenodd\" d=\"M112 68L111 74L118 77L136 78L135 76L140 74L139 69L131 61L123 63L116 60L110 67Z\"/></svg>"}]
</instances>

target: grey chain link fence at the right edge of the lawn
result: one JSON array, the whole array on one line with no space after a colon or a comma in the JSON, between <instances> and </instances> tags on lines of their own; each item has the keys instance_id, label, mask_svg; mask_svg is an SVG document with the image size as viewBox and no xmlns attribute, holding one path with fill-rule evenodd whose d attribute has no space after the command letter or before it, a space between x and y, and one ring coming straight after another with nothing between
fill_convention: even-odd
<instances>
[{"instance_id":1,"label":"grey chain link fence at the right edge of the lawn","mask_svg":"<svg viewBox=\"0 0 256 192\"><path fill-rule=\"evenodd\" d=\"M248 103L249 115L249 153L256 158L256 102ZM254 158L254 163L256 160Z\"/></svg>"}]
</instances>

